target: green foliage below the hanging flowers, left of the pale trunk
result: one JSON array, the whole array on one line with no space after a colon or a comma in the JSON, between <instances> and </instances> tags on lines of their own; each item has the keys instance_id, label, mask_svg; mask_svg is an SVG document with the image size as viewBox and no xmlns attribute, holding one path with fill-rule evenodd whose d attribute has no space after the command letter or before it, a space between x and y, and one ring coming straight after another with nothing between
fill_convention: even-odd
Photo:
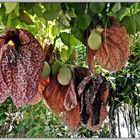
<instances>
[{"instance_id":1,"label":"green foliage below the hanging flowers, left of the pale trunk","mask_svg":"<svg viewBox=\"0 0 140 140\"><path fill-rule=\"evenodd\" d=\"M96 136L80 126L70 131L57 114L43 102L26 105L17 110L10 98L0 106L0 137L24 138L77 138Z\"/></svg>"}]
</instances>

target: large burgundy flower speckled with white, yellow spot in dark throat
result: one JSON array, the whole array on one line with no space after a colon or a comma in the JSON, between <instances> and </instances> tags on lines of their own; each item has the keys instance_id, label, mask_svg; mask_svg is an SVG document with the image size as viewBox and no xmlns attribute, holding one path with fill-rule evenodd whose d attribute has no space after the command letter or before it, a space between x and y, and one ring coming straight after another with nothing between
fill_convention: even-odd
<instances>
[{"instance_id":1,"label":"large burgundy flower speckled with white, yellow spot in dark throat","mask_svg":"<svg viewBox=\"0 0 140 140\"><path fill-rule=\"evenodd\" d=\"M37 91L45 59L43 49L29 32L10 29L0 37L0 58L0 102L11 96L15 105L22 107Z\"/></svg>"}]
</instances>

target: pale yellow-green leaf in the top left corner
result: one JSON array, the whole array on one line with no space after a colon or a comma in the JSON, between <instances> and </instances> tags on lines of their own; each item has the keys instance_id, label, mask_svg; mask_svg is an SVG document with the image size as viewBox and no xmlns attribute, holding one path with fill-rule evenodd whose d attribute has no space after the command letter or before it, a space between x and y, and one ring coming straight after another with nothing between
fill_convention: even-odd
<instances>
[{"instance_id":1,"label":"pale yellow-green leaf in the top left corner","mask_svg":"<svg viewBox=\"0 0 140 140\"><path fill-rule=\"evenodd\" d=\"M17 4L17 2L5 2L4 6L6 9L6 14L11 13L16 8Z\"/></svg>"}]
</instances>

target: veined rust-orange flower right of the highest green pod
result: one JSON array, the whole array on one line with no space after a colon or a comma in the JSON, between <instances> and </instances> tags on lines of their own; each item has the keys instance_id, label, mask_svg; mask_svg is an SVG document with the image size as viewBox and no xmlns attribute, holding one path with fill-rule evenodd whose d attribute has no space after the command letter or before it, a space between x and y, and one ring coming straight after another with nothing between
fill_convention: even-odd
<instances>
[{"instance_id":1,"label":"veined rust-orange flower right of the highest green pod","mask_svg":"<svg viewBox=\"0 0 140 140\"><path fill-rule=\"evenodd\" d=\"M97 62L109 71L120 70L128 59L129 39L125 28L111 17L112 26L102 32L104 42L95 51Z\"/></svg>"}]
</instances>

